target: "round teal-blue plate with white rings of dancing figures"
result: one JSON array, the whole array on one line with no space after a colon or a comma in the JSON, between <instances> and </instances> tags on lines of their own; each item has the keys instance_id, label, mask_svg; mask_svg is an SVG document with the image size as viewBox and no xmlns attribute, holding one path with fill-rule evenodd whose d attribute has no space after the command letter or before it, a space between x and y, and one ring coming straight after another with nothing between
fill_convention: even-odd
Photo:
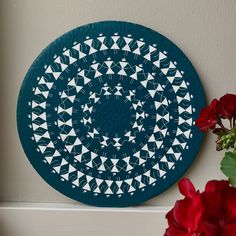
<instances>
[{"instance_id":1,"label":"round teal-blue plate with white rings of dancing figures","mask_svg":"<svg viewBox=\"0 0 236 236\"><path fill-rule=\"evenodd\" d=\"M141 203L190 166L204 93L170 40L107 21L51 43L20 90L17 124L33 167L53 188L96 206Z\"/></svg>"}]
</instances>

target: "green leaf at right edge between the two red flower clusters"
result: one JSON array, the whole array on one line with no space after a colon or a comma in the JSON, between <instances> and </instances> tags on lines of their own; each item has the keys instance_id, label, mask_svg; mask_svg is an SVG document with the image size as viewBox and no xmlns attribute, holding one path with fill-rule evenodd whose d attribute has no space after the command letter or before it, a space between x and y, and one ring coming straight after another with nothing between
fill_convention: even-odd
<instances>
[{"instance_id":1,"label":"green leaf at right edge between the two red flower clusters","mask_svg":"<svg viewBox=\"0 0 236 236\"><path fill-rule=\"evenodd\" d=\"M236 187L236 153L225 153L221 161L221 171L229 178L232 186Z\"/></svg>"}]
</instances>

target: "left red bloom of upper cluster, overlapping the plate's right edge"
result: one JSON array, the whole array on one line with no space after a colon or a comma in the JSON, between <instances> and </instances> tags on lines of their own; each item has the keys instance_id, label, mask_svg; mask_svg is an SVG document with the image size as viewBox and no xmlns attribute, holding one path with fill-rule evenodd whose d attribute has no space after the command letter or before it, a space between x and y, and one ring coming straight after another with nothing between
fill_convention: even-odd
<instances>
[{"instance_id":1,"label":"left red bloom of upper cluster, overlapping the plate's right edge","mask_svg":"<svg viewBox=\"0 0 236 236\"><path fill-rule=\"evenodd\" d=\"M200 117L196 120L196 125L201 131L215 129L218 118L218 103L217 99L212 100L210 106L203 108L200 112Z\"/></svg>"}]
</instances>

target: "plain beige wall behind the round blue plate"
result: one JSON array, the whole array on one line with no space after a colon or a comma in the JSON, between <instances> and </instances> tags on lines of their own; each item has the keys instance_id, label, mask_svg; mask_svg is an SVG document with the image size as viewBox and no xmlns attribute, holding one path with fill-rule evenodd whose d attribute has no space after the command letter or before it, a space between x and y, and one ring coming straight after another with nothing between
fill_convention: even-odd
<instances>
[{"instance_id":1,"label":"plain beige wall behind the round blue plate","mask_svg":"<svg viewBox=\"0 0 236 236\"><path fill-rule=\"evenodd\" d=\"M16 101L24 75L51 41L83 24L122 20L167 36L188 56L200 75L208 101L236 92L236 1L234 0L1 0L0 201L74 203L47 185L21 148ZM221 179L222 153L208 135L185 176L203 188ZM146 205L173 205L177 185Z\"/></svg>"}]
</instances>

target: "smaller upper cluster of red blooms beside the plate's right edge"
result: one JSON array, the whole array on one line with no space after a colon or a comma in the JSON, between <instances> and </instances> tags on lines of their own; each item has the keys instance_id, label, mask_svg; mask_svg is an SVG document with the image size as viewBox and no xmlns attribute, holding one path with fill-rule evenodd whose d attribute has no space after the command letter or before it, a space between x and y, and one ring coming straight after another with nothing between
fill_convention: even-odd
<instances>
[{"instance_id":1,"label":"smaller upper cluster of red blooms beside the plate's right edge","mask_svg":"<svg viewBox=\"0 0 236 236\"><path fill-rule=\"evenodd\" d=\"M209 106L202 109L196 125L201 131L215 129L216 124L222 127L221 118L236 119L236 94L226 94L219 100L214 99Z\"/></svg>"}]
</instances>

